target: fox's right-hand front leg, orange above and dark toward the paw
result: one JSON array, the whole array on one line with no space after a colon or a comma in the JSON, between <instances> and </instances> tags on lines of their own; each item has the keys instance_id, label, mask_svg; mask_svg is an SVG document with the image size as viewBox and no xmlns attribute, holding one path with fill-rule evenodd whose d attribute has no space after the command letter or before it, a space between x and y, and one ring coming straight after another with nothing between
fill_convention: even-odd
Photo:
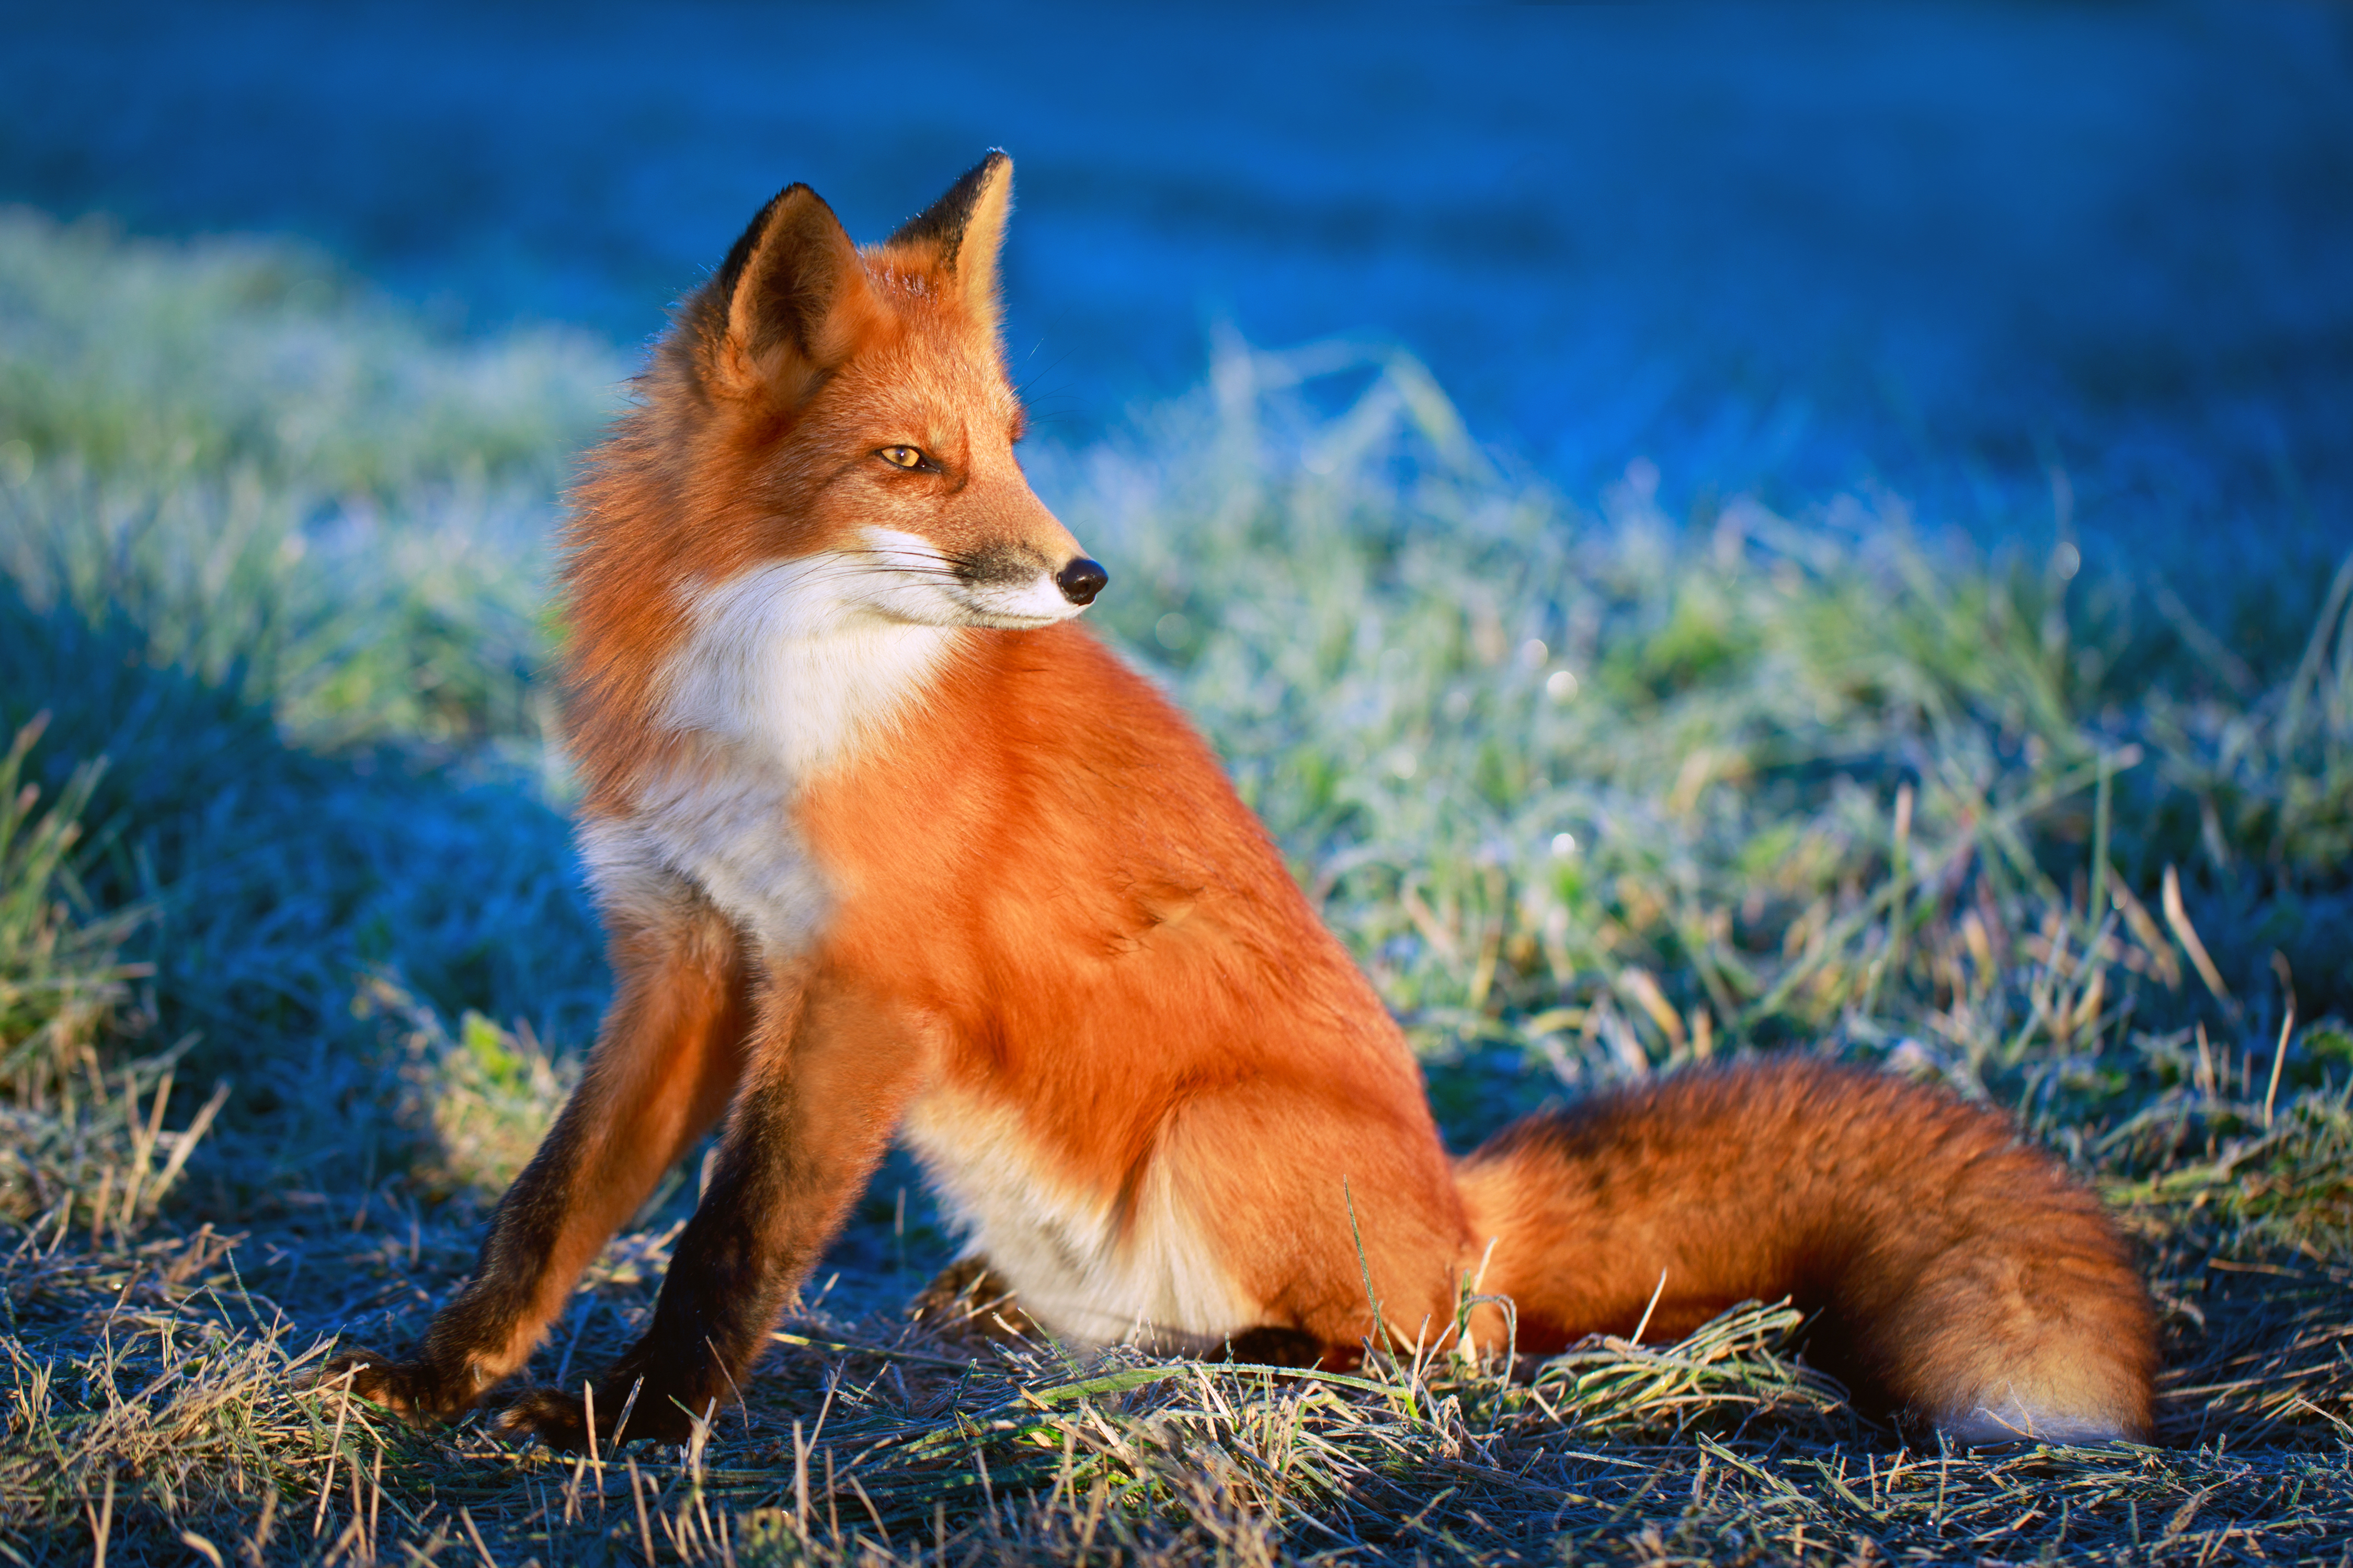
<instances>
[{"instance_id":1,"label":"fox's right-hand front leg, orange above and dark toward the paw","mask_svg":"<svg viewBox=\"0 0 2353 1568\"><path fill-rule=\"evenodd\" d=\"M718 1168L654 1302L654 1321L595 1380L598 1439L687 1441L732 1403L791 1291L866 1187L922 1081L920 1030L838 978L779 985L760 1006ZM553 1448L586 1446L579 1389L534 1389L499 1418Z\"/></svg>"}]
</instances>

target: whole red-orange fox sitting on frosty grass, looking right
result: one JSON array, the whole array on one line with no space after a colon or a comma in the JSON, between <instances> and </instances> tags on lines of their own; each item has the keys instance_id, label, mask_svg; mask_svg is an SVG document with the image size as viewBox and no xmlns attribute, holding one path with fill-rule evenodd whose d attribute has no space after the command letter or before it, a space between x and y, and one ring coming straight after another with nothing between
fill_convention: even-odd
<instances>
[{"instance_id":1,"label":"whole red-orange fox sitting on frosty grass, looking right","mask_svg":"<svg viewBox=\"0 0 2353 1568\"><path fill-rule=\"evenodd\" d=\"M678 310L574 496L567 719L616 994L473 1281L351 1387L452 1418L725 1117L600 1436L748 1375L894 1135L1047 1331L1315 1361L1478 1291L1544 1352L1751 1298L1960 1439L2146 1439L2099 1204L1993 1112L1819 1063L1685 1072L1440 1145L1421 1074L1186 719L1073 625L998 343L1012 162L887 242L807 186ZM1664 1284L1661 1284L1664 1276ZM1377 1321L1379 1314L1379 1321ZM1478 1307L1475 1349L1506 1349ZM581 1394L511 1432L581 1446Z\"/></svg>"}]
</instances>

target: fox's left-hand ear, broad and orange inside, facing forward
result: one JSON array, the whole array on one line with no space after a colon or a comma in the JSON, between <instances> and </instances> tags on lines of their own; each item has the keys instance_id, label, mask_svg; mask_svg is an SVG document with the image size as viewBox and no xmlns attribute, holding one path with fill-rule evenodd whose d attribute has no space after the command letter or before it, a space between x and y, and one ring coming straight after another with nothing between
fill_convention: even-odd
<instances>
[{"instance_id":1,"label":"fox's left-hand ear, broad and orange inside, facing forward","mask_svg":"<svg viewBox=\"0 0 2353 1568\"><path fill-rule=\"evenodd\" d=\"M786 186L696 301L704 374L722 395L800 402L880 315L842 221L807 186Z\"/></svg>"}]
</instances>

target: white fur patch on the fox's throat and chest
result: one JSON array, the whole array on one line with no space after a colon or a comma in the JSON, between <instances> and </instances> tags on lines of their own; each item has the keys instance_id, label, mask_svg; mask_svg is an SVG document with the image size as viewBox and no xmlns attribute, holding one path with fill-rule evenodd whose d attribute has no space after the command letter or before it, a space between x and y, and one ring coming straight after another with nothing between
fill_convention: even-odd
<instances>
[{"instance_id":1,"label":"white fur patch on the fox's throat and chest","mask_svg":"<svg viewBox=\"0 0 2353 1568\"><path fill-rule=\"evenodd\" d=\"M584 830L602 898L661 896L682 877L774 950L816 938L826 889L793 799L896 731L960 635L892 614L887 588L887 564L826 552L685 599L661 724L692 755L645 785L633 816Z\"/></svg>"}]
</instances>

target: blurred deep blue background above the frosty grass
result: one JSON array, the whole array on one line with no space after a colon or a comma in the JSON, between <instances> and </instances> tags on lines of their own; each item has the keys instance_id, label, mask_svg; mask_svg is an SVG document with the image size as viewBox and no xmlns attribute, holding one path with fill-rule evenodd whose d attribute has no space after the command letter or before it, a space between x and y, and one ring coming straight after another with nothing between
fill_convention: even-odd
<instances>
[{"instance_id":1,"label":"blurred deep blue background above the frosty grass","mask_svg":"<svg viewBox=\"0 0 2353 1568\"><path fill-rule=\"evenodd\" d=\"M1671 505L1880 482L2038 545L2057 463L2134 567L2353 536L2353 7L85 0L0 42L0 200L294 230L468 327L638 341L779 183L878 237L993 143L1064 440L1231 320L1405 343L1577 498L1647 456Z\"/></svg>"}]
</instances>

